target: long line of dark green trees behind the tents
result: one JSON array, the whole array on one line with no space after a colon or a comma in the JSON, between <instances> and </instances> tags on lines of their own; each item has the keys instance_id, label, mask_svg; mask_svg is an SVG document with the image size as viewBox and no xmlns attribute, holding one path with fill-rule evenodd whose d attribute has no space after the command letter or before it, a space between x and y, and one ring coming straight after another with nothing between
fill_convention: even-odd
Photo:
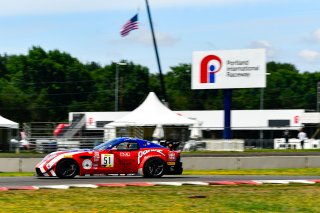
<instances>
[{"instance_id":1,"label":"long line of dark green trees behind the tents","mask_svg":"<svg viewBox=\"0 0 320 213\"><path fill-rule=\"evenodd\" d=\"M162 99L159 74L126 62L81 63L59 50L32 47L26 55L0 55L0 115L13 121L61 122L69 112L114 111L118 69L119 111L139 106L150 91ZM118 66L118 67L117 67ZM234 89L232 109L317 108L319 72L300 73L294 65L269 62L267 87ZM222 110L222 90L191 90L191 64L164 74L172 110ZM261 103L263 94L263 103Z\"/></svg>"}]
</instances>

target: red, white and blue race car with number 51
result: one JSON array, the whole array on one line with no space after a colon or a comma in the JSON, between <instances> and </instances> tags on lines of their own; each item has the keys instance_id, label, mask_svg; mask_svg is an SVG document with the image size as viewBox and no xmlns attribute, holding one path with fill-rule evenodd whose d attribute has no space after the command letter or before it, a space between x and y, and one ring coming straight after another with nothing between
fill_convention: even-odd
<instances>
[{"instance_id":1,"label":"red, white and blue race car with number 51","mask_svg":"<svg viewBox=\"0 0 320 213\"><path fill-rule=\"evenodd\" d=\"M53 152L36 165L37 176L59 178L97 174L138 174L158 178L182 172L180 151L128 137L109 140L93 149Z\"/></svg>"}]
</instances>

